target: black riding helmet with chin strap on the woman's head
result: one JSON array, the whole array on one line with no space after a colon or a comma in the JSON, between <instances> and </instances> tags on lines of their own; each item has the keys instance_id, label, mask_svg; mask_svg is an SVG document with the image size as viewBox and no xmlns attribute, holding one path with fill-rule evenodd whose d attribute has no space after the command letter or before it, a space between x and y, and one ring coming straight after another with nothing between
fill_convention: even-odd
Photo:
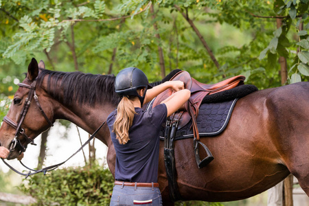
<instances>
[{"instance_id":1,"label":"black riding helmet with chin strap on the woman's head","mask_svg":"<svg viewBox=\"0 0 309 206\"><path fill-rule=\"evenodd\" d=\"M145 88L144 95L141 96L137 93L137 89ZM128 67L122 69L115 79L115 92L123 96L137 96L143 106L147 89L152 88L148 84L148 78L141 69L136 67Z\"/></svg>"}]
</instances>

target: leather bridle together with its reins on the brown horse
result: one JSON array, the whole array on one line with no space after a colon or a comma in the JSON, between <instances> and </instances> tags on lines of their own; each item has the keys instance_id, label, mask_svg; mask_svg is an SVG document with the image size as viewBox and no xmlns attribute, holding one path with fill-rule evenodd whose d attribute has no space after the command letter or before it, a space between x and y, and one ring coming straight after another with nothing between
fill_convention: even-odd
<instances>
[{"instance_id":1,"label":"leather bridle together with its reins on the brown horse","mask_svg":"<svg viewBox=\"0 0 309 206\"><path fill-rule=\"evenodd\" d=\"M41 104L38 102L38 96L36 95L36 79L32 82L31 85L23 84L23 83L19 83L17 85L19 85L19 87L25 87L27 89L30 89L30 91L28 93L28 96L25 99L25 104L23 105L23 109L21 110L21 113L19 115L19 121L18 121L18 123L14 122L7 115L5 115L5 117L3 118L3 121L16 129L14 138L12 139L11 144L10 144L10 152L13 152L17 148L17 149L19 149L19 154L21 154L22 152L25 152L25 150L27 149L27 144L36 145L36 144L34 144L34 140L31 139L30 137L28 137L25 134L25 130L21 127L21 124L23 124L23 120L25 119L25 115L27 114L27 111L28 111L28 109L30 107L30 103L31 103L32 98L34 98L34 100L36 102L36 105L38 106L38 108L41 111L42 115L45 117L45 119L48 122L49 126L54 126L54 124L48 119L47 115L43 111L43 108L42 108ZM25 166L21 161L19 161L21 163L21 165L23 165L25 168L30 170L28 173L22 173L22 172L19 172L19 171L15 170L11 165L9 165L6 161L4 161L4 159L2 159L2 161L11 170L16 172L17 174L25 176L25 178L27 178L28 176L30 176L32 174L37 174L37 173L40 173L40 172L43 172L44 174L46 174L46 172L55 170L60 165L66 163L69 159L71 159L78 152L80 152L80 150L82 150L82 148L84 148L84 146L89 144L89 142L93 139L93 137L95 137L95 135L98 133L100 128L102 128L102 126L105 124L105 122L103 122L101 124L101 126L97 130L95 130L95 132L91 135L91 137L89 137L89 139L73 155L71 155L71 157L69 157L67 160L63 161L62 163L58 163L56 165L52 165L52 166L43 168L41 170L32 170L32 169L28 168L27 166ZM23 135L23 137L25 137L25 139L27 141L25 146L23 146L23 144L21 144L21 140L18 138L19 135Z\"/></svg>"}]
</instances>

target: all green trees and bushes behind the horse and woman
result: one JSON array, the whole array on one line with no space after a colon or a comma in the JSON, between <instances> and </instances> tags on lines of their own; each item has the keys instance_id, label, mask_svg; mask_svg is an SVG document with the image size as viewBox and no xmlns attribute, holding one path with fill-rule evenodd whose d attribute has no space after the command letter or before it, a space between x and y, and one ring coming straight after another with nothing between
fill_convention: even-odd
<instances>
[{"instance_id":1,"label":"all green trees and bushes behind the horse and woman","mask_svg":"<svg viewBox=\"0 0 309 206\"><path fill-rule=\"evenodd\" d=\"M309 0L0 0L0 118L8 112L32 57L57 71L116 74L124 67L139 67L150 81L176 68L209 84L242 74L247 84L259 89L307 81L308 4ZM42 138L41 164L47 135L45 141ZM97 185L93 190L104 190L98 197L106 197L108 172L98 166L78 170L71 176L71 169L52 174L72 185L74 176L81 176L73 193L69 186L52 187L67 191L72 203L80 203L79 191L88 190L83 184ZM95 181L84 179L87 175L98 176L101 185L87 182ZM31 187L23 191L43 203L44 191L33 190L39 179L30 179ZM52 176L44 182L56 184L49 180ZM88 202L80 204L93 203L89 193L84 194ZM61 201L45 197L48 203Z\"/></svg>"}]
</instances>

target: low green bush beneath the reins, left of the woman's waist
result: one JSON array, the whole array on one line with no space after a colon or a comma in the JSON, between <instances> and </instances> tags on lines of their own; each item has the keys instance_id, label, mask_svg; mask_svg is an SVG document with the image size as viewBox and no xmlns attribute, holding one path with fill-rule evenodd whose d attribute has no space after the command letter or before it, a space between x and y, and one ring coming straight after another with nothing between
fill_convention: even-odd
<instances>
[{"instance_id":1,"label":"low green bush beneath the reins, left of the woman's waist","mask_svg":"<svg viewBox=\"0 0 309 206\"><path fill-rule=\"evenodd\" d=\"M20 189L36 198L34 205L109 205L113 176L98 164L63 168L30 176Z\"/></svg>"}]
</instances>

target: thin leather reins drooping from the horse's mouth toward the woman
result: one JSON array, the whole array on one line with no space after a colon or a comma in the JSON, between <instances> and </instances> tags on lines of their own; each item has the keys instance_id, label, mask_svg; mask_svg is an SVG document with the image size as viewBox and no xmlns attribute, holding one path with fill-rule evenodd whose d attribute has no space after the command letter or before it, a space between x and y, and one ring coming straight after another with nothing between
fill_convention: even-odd
<instances>
[{"instance_id":1,"label":"thin leather reins drooping from the horse's mouth toward the woman","mask_svg":"<svg viewBox=\"0 0 309 206\"><path fill-rule=\"evenodd\" d=\"M5 165L7 165L11 170L13 170L14 172L16 172L17 174L20 174L20 175L23 175L25 176L25 178L27 178L28 176L30 175L33 175L33 174L37 174L37 173L40 173L40 172L43 172L44 174L46 174L46 172L49 172L49 171L52 171L52 170L55 170L56 168L58 168L60 165L63 165L64 163L66 163L69 159L71 159L73 156L75 156L78 152L80 152L80 150L82 150L82 148L84 148L84 146L86 146L87 144L89 144L89 142L95 137L95 135L98 133L98 131L100 130L100 128L102 128L102 126L106 123L103 122L101 124L101 126L99 126L99 128L97 128L97 130L95 130L95 132L91 135L91 137L89 137L89 139L87 141L84 142L84 144L73 154L71 155L71 157L69 157L67 160L65 161L62 161L62 163L58 163L56 165L52 165L52 166L48 166L46 168L43 168L41 170L32 170L30 168L28 168L27 166L25 166L21 161L21 165L23 165L25 168L27 168L28 170L30 170L28 173L22 173L22 172L19 172L17 170L15 170L11 165L9 165L6 161L4 161L4 159L2 159L3 163L5 163ZM32 172L31 172L32 171Z\"/></svg>"}]
</instances>

